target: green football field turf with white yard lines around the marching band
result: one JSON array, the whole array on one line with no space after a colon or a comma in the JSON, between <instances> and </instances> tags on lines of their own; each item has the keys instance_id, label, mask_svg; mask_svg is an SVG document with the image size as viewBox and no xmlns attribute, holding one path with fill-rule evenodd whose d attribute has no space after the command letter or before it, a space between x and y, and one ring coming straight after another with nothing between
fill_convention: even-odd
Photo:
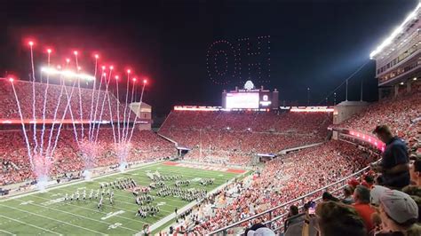
<instances>
[{"instance_id":1,"label":"green football field turf with white yard lines around the marching band","mask_svg":"<svg viewBox=\"0 0 421 236\"><path fill-rule=\"evenodd\" d=\"M97 209L97 201L60 201L53 200L75 193L76 189L86 188L89 195L91 189L99 188L100 182L111 182L119 177L132 177L138 185L147 186L151 182L146 175L147 171L158 170L161 175L182 175L183 179L197 177L214 178L213 185L203 186L192 182L185 188L206 188L208 191L223 185L227 180L238 174L213 170L191 169L164 164L155 164L139 169L133 169L114 176L95 178L92 182L80 182L75 185L63 185L51 189L47 193L34 193L16 199L0 201L0 235L8 234L124 234L131 235L140 232L144 224L154 224L158 220L174 212L174 208L182 208L188 201L175 197L155 197L152 205L160 204L161 211L157 216L147 216L143 219L135 216L138 206L133 195L124 190L114 190L115 204L111 206L104 198L102 210ZM174 185L175 181L165 181L166 185ZM81 191L82 190L82 191ZM151 192L155 196L156 191ZM47 204L51 203L51 204ZM163 204L163 205L162 205ZM122 212L123 211L123 212ZM121 214L107 216L108 213L120 212Z\"/></svg>"}]
</instances>

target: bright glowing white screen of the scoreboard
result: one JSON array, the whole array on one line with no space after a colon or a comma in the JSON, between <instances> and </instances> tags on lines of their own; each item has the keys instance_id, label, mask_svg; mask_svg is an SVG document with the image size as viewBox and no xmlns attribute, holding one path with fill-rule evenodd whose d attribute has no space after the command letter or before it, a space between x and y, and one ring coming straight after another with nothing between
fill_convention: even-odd
<instances>
[{"instance_id":1,"label":"bright glowing white screen of the scoreboard","mask_svg":"<svg viewBox=\"0 0 421 236\"><path fill-rule=\"evenodd\" d=\"M228 109L258 109L258 92L226 93Z\"/></svg>"}]
</instances>

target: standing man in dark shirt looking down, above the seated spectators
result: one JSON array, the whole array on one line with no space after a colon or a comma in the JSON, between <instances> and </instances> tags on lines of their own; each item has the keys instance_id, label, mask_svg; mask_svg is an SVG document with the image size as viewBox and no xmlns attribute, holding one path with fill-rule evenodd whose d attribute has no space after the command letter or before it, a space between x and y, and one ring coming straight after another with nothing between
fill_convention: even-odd
<instances>
[{"instance_id":1,"label":"standing man in dark shirt looking down, above the seated spectators","mask_svg":"<svg viewBox=\"0 0 421 236\"><path fill-rule=\"evenodd\" d=\"M393 136L386 125L377 126L373 133L385 143L381 161L371 166L371 169L381 174L377 177L377 183L394 189L409 185L409 155L405 142Z\"/></svg>"}]
</instances>

